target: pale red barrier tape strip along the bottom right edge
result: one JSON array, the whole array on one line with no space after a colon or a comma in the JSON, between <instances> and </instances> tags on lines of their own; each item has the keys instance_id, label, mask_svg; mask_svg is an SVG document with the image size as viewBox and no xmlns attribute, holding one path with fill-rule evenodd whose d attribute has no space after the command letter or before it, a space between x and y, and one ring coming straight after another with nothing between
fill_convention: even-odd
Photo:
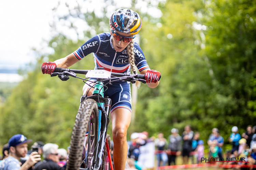
<instances>
[{"instance_id":1,"label":"pale red barrier tape strip along the bottom right edge","mask_svg":"<svg viewBox=\"0 0 256 170\"><path fill-rule=\"evenodd\" d=\"M224 165L224 164L187 164L187 165L170 165L170 166L161 166L157 169L185 169L185 168L201 168L201 167L219 167L219 168L256 168L256 165Z\"/></svg>"}]
</instances>

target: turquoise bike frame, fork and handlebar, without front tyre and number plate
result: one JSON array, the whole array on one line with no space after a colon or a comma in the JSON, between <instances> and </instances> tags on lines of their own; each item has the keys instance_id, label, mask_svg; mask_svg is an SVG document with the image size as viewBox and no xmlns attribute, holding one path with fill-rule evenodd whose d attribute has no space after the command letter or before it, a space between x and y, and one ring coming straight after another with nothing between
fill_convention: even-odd
<instances>
[{"instance_id":1,"label":"turquoise bike frame, fork and handlebar, without front tyre and number plate","mask_svg":"<svg viewBox=\"0 0 256 170\"><path fill-rule=\"evenodd\" d=\"M98 67L97 70L102 70L104 68L102 67ZM69 76L71 77L75 77L75 78L79 78L82 79L84 81L89 81L80 77L76 76L76 73L78 74L87 74L88 71L90 70L72 70L72 69L62 69L62 68L58 68L56 67L54 72L51 74L51 77L58 75L58 77L62 80L62 81L67 81L69 79ZM92 75L92 74L91 74ZM91 76L90 75L90 76ZM93 74L93 76L95 76L95 74ZM89 77L89 75L88 75ZM135 83L136 80L140 81L142 83L146 83L145 81L145 75L144 74L138 74L135 73L134 74L130 74L130 73L115 73L115 72L111 72L111 75L109 75L109 77L106 78L106 76L102 77L99 76L100 79L98 78L96 80L96 82L92 82L95 83L93 86L91 86L92 88L94 88L93 91L93 95L92 96L82 96L81 97L81 103L82 101L86 100L86 99L93 99L98 103L98 141L96 144L96 141L92 141L90 143L90 146L94 146L94 150L91 151L92 153L87 154L87 158L90 158L90 162L88 162L87 159L87 163L89 164L89 166L93 166L91 167L91 169L99 169L101 164L104 163L102 161L102 157L104 156L104 147L106 145L106 150L108 153L108 157L109 157L109 163L111 166L111 169L114 170L113 168L113 164L112 164L112 159L111 159L111 154L110 154L110 150L109 150L109 143L108 140L106 140L106 136L107 136L107 129L108 129L108 124L110 122L109 120L109 113L110 113L110 106L111 106L111 99L108 97L104 97L104 87L106 87L103 84L103 80L113 80L113 81L129 81L131 83ZM91 82L91 81L90 81ZM105 83L108 84L108 83ZM79 107L79 109L81 108L81 106ZM90 132L90 128L92 128L92 132ZM88 132L90 132L91 136L95 135L95 128L93 128L93 126L88 125ZM89 141L89 140L88 140ZM94 159L95 156L95 159ZM87 164L87 166L88 166ZM88 166L88 167L89 167ZM80 170L89 170L88 168L80 168Z\"/></svg>"}]
</instances>

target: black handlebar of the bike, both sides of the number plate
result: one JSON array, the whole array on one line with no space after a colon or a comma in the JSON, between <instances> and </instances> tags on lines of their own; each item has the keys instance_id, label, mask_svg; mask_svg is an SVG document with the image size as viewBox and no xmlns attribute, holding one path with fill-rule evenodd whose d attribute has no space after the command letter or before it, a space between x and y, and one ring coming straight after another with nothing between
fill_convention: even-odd
<instances>
[{"instance_id":1,"label":"black handlebar of the bike, both sides of the number plate","mask_svg":"<svg viewBox=\"0 0 256 170\"><path fill-rule=\"evenodd\" d=\"M64 72L64 71L68 71L68 72L74 72L74 73L77 73L77 74L86 74L89 70L74 70L74 69L63 69L63 68L59 68L59 67L56 67L55 70L53 71L54 73L61 73L61 72ZM130 74L130 73L116 73L116 72L111 72L111 75L112 76L115 76L115 77L134 77L136 80L138 79L138 81L142 82L142 83L146 83L145 81L145 74Z\"/></svg>"}]
</instances>

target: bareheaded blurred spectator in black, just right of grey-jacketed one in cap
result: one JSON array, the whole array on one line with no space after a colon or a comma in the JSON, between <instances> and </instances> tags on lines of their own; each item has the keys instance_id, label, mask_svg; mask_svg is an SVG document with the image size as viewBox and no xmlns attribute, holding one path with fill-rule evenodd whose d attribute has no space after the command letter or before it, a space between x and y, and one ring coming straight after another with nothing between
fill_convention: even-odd
<instances>
[{"instance_id":1,"label":"bareheaded blurred spectator in black, just right of grey-jacketed one in cap","mask_svg":"<svg viewBox=\"0 0 256 170\"><path fill-rule=\"evenodd\" d=\"M190 156L190 152L192 150L192 139L194 136L194 132L191 131L191 127L186 125L184 128L184 132L182 134L183 139L183 148L182 148L182 156L183 156L183 164L188 164L188 158Z\"/></svg>"}]
</instances>

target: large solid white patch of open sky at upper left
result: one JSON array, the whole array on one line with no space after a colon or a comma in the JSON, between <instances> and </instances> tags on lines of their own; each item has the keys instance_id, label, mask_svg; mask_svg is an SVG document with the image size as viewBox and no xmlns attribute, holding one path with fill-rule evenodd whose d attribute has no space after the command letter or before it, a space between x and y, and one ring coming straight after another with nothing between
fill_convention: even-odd
<instances>
[{"instance_id":1,"label":"large solid white patch of open sky at upper left","mask_svg":"<svg viewBox=\"0 0 256 170\"><path fill-rule=\"evenodd\" d=\"M0 5L0 69L34 62L33 47L50 38L49 22L56 0L8 0Z\"/></svg>"}]
</instances>

